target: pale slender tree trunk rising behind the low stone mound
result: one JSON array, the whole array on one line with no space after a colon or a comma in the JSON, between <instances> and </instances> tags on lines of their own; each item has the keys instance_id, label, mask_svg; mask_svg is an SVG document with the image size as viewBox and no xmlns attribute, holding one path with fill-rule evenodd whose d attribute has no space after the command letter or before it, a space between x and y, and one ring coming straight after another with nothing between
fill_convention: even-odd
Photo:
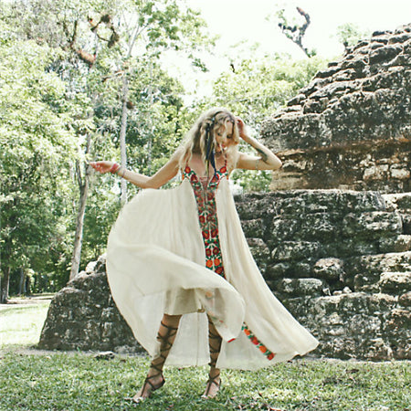
<instances>
[{"instance_id":1,"label":"pale slender tree trunk rising behind the low stone mound","mask_svg":"<svg viewBox=\"0 0 411 411\"><path fill-rule=\"evenodd\" d=\"M87 137L87 147L86 153L90 152L90 135ZM86 204L87 196L89 195L89 175L90 166L85 163L84 176L81 176L81 169L79 162L76 164L77 168L77 180L79 183L79 211L77 213L77 223L76 223L76 237L74 238L74 248L73 256L71 258L71 269L69 280L75 279L79 275L79 265L81 260L81 247L83 244L83 227L84 227L84 216L86 215Z\"/></svg>"}]
</instances>

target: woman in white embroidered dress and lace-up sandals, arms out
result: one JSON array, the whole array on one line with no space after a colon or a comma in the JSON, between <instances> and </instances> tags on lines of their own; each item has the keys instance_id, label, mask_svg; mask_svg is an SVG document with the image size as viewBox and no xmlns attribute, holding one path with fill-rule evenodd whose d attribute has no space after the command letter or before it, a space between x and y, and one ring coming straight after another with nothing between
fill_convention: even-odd
<instances>
[{"instance_id":1,"label":"woman in white embroidered dress and lace-up sandals, arms out","mask_svg":"<svg viewBox=\"0 0 411 411\"><path fill-rule=\"evenodd\" d=\"M240 139L258 155L239 153ZM91 165L147 189L123 207L107 248L112 296L153 359L134 401L163 386L164 364L208 363L204 396L214 397L220 368L267 367L317 346L269 290L240 227L229 174L281 166L243 121L206 111L151 177L117 163ZM178 187L153 190L179 172Z\"/></svg>"}]
</instances>

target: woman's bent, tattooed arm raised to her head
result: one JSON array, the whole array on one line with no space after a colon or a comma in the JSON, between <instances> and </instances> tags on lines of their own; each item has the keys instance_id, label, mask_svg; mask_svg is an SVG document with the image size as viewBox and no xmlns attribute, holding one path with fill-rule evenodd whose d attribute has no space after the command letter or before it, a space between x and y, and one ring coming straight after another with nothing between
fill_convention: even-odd
<instances>
[{"instance_id":1,"label":"woman's bent, tattooed arm raised to her head","mask_svg":"<svg viewBox=\"0 0 411 411\"><path fill-rule=\"evenodd\" d=\"M237 160L237 168L245 170L278 170L281 167L282 163L279 157L272 153L265 145L261 144L261 142L248 136L244 122L238 118L237 127L239 136L258 153L258 156L240 153Z\"/></svg>"}]
</instances>

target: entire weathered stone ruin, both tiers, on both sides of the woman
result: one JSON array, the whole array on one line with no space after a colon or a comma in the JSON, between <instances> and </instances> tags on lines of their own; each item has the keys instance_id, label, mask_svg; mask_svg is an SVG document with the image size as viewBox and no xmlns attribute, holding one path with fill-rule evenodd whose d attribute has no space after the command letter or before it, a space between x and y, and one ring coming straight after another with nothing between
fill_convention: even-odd
<instances>
[{"instance_id":1,"label":"entire weathered stone ruin, both tiers, on both sides of the woman","mask_svg":"<svg viewBox=\"0 0 411 411\"><path fill-rule=\"evenodd\" d=\"M269 287L342 359L411 359L411 26L330 63L261 137L283 161L269 194L236 198ZM105 261L51 302L40 347L135 353Z\"/></svg>"}]
</instances>

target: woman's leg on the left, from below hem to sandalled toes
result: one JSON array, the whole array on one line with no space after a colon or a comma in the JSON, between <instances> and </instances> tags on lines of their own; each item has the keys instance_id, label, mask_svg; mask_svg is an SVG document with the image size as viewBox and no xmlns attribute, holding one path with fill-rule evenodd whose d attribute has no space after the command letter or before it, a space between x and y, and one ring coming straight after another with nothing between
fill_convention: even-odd
<instances>
[{"instance_id":1,"label":"woman's leg on the left, from below hem to sandalled toes","mask_svg":"<svg viewBox=\"0 0 411 411\"><path fill-rule=\"evenodd\" d=\"M142 389L132 398L134 402L139 402L142 399L149 397L153 391L163 386L163 366L173 347L180 319L181 315L163 315L163 320L161 321L157 334L157 340L160 342L160 355L154 358L152 364L150 364L150 369L147 373L147 378L142 385Z\"/></svg>"}]
</instances>

